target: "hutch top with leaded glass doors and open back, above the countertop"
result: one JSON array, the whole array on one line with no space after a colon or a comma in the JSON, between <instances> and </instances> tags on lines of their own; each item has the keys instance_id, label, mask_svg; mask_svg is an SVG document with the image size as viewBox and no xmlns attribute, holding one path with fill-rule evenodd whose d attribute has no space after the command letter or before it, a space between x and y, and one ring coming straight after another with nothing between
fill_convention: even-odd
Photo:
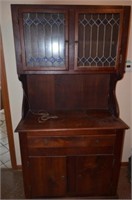
<instances>
[{"instance_id":1,"label":"hutch top with leaded glass doors and open back, above the countertop","mask_svg":"<svg viewBox=\"0 0 132 200\"><path fill-rule=\"evenodd\" d=\"M28 110L118 116L129 6L12 5L17 71Z\"/></svg>"}]
</instances>

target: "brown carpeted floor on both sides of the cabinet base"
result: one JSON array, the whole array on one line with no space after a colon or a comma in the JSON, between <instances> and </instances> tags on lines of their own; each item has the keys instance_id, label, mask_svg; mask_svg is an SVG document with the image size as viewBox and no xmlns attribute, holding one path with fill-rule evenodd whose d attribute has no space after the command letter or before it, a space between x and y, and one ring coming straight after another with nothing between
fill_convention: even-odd
<instances>
[{"instance_id":1,"label":"brown carpeted floor on both sides of the cabinet base","mask_svg":"<svg viewBox=\"0 0 132 200\"><path fill-rule=\"evenodd\" d=\"M128 168L123 166L118 185L119 199L131 199ZM1 169L1 199L25 199L21 170Z\"/></svg>"}]
</instances>

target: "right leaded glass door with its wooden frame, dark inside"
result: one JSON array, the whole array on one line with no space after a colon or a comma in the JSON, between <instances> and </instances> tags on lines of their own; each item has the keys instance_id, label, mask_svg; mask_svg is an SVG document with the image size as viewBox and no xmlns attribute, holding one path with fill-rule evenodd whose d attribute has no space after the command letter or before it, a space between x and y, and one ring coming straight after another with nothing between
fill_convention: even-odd
<instances>
[{"instance_id":1,"label":"right leaded glass door with its wooden frame, dark inside","mask_svg":"<svg viewBox=\"0 0 132 200\"><path fill-rule=\"evenodd\" d=\"M76 12L75 69L115 70L120 60L121 10Z\"/></svg>"}]
</instances>

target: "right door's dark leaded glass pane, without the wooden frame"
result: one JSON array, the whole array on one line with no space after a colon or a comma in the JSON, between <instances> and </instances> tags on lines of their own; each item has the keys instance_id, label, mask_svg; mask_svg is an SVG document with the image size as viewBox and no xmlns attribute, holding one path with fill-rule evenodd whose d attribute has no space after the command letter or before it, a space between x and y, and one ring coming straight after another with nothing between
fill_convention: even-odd
<instances>
[{"instance_id":1,"label":"right door's dark leaded glass pane, without the wooden frame","mask_svg":"<svg viewBox=\"0 0 132 200\"><path fill-rule=\"evenodd\" d=\"M115 66L119 14L79 14L78 66Z\"/></svg>"}]
</instances>

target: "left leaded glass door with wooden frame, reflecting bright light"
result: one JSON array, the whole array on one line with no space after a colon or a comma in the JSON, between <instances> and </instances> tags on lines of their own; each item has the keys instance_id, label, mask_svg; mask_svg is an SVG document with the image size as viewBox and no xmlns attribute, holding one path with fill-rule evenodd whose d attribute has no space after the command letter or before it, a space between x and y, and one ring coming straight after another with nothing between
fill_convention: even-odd
<instances>
[{"instance_id":1,"label":"left leaded glass door with wooden frame, reflecting bright light","mask_svg":"<svg viewBox=\"0 0 132 200\"><path fill-rule=\"evenodd\" d=\"M24 70L66 70L68 63L67 11L21 12Z\"/></svg>"}]
</instances>

